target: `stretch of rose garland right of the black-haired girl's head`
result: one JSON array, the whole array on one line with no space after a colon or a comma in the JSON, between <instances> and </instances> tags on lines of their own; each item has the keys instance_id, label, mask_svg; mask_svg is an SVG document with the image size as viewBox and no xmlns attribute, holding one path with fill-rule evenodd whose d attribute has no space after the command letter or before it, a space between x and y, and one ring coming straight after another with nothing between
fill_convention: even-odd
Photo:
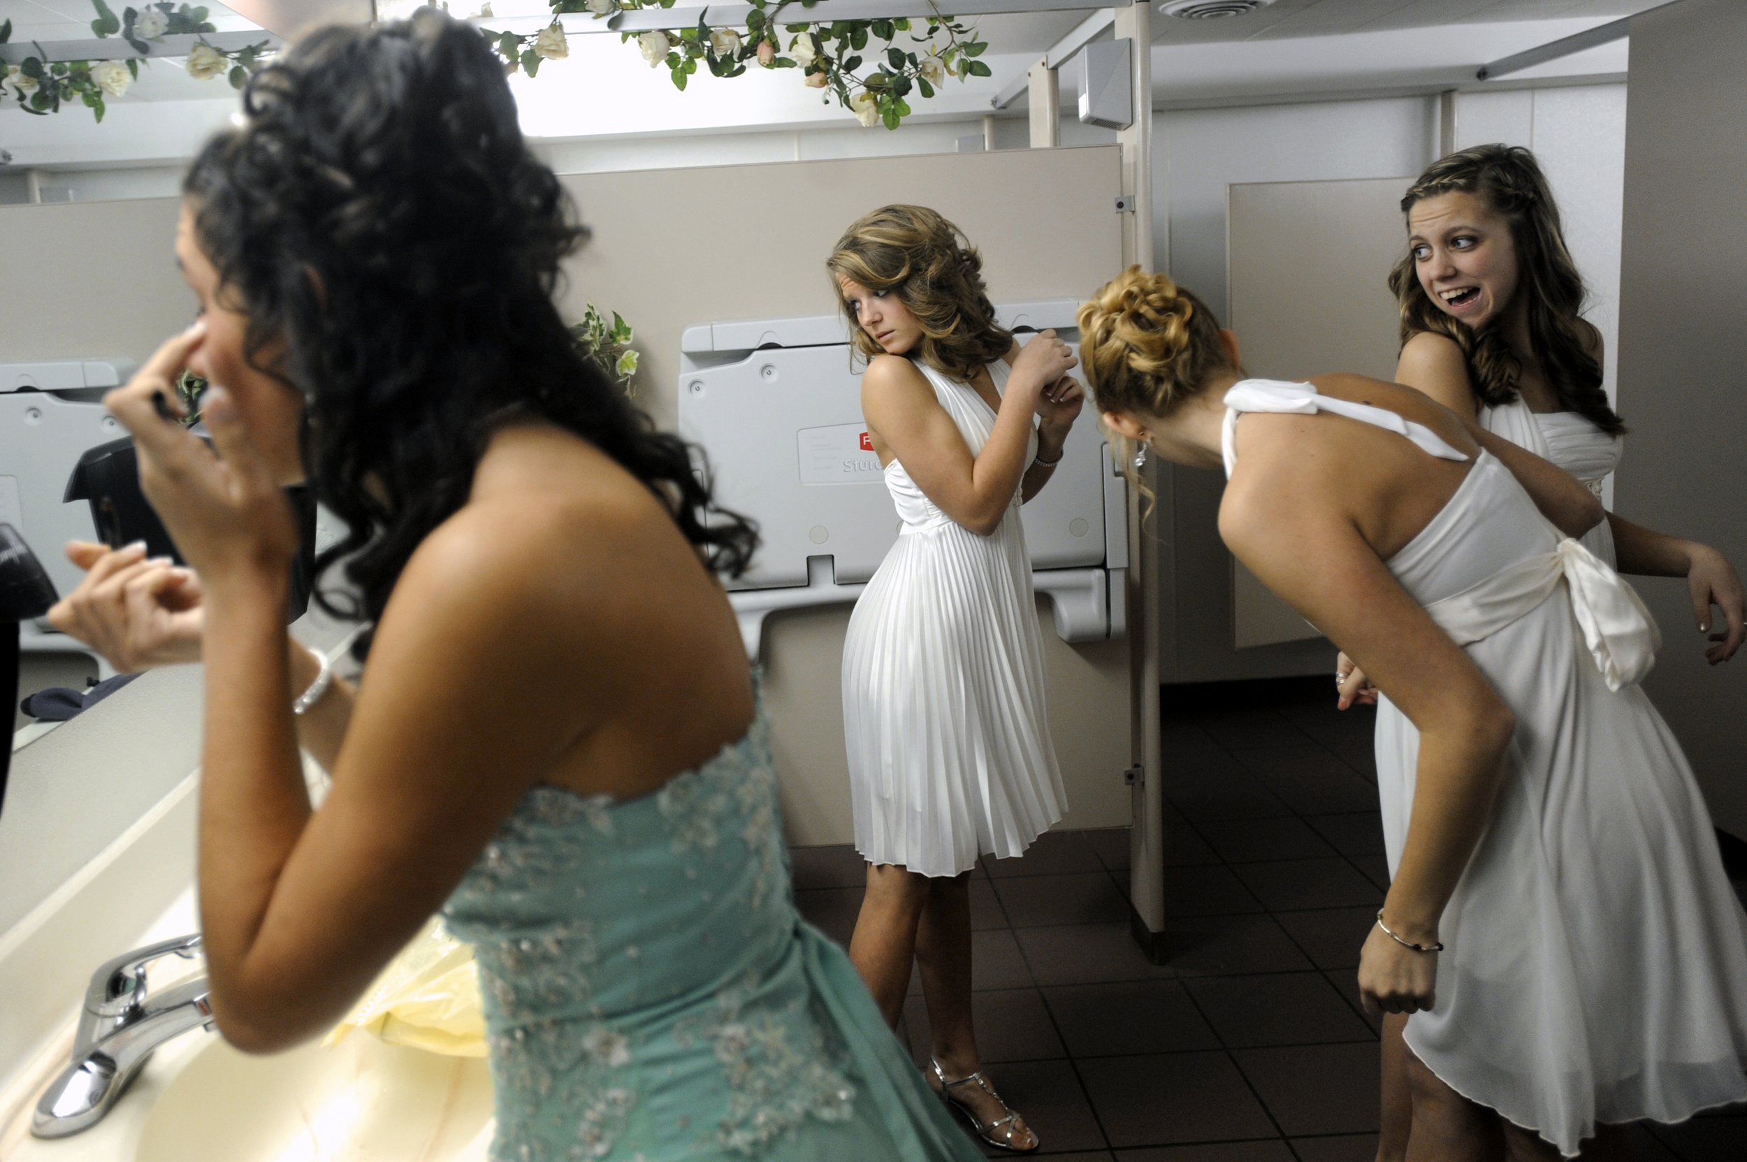
<instances>
[{"instance_id":1,"label":"stretch of rose garland right of the black-haired girl's head","mask_svg":"<svg viewBox=\"0 0 1747 1162\"><path fill-rule=\"evenodd\" d=\"M671 9L674 0L549 0L552 23L538 33L480 33L503 59L505 68L517 68L533 77L540 61L570 56L570 44L557 17L570 12L589 12L606 19L618 12L641 9ZM935 16L921 24L910 19L856 19L856 21L784 21L786 9L800 5L795 16L811 16L819 0L749 0L744 31L709 28L699 16L695 28L650 30L620 33L620 42L636 40L650 68L667 68L676 89L685 89L704 61L715 77L739 77L748 68L798 68L809 89L828 89L837 103L856 115L863 126L884 124L896 129L910 115L910 93L935 96L947 77L989 77L991 70L977 58L989 47L977 31L950 16L942 16L929 0ZM491 5L480 12L491 17ZM912 45L898 44L900 33L908 33ZM938 38L945 44L936 44ZM783 42L788 42L784 47ZM874 42L884 47L874 47ZM830 96L821 100L830 101Z\"/></svg>"}]
</instances>

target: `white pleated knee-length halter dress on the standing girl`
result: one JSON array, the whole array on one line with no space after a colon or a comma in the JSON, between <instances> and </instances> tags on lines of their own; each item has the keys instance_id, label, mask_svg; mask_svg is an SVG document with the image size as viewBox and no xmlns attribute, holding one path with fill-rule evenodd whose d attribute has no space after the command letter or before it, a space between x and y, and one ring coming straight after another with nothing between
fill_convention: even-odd
<instances>
[{"instance_id":1,"label":"white pleated knee-length halter dress on the standing girl","mask_svg":"<svg viewBox=\"0 0 1747 1162\"><path fill-rule=\"evenodd\" d=\"M994 430L977 391L915 363L971 454ZM989 363L996 391L1006 363ZM1036 454L1031 437L1027 461ZM856 849L870 863L957 875L1017 856L1066 809L1043 697L1019 491L980 536L886 467L901 528L844 640L844 741Z\"/></svg>"}]
</instances>

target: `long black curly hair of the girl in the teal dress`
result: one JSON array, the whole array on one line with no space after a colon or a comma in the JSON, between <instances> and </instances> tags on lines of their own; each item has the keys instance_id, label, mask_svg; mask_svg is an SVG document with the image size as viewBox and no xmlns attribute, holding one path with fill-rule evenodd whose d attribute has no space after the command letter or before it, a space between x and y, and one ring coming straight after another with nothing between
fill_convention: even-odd
<instances>
[{"instance_id":1,"label":"long black curly hair of the girl in the teal dress","mask_svg":"<svg viewBox=\"0 0 1747 1162\"><path fill-rule=\"evenodd\" d=\"M688 446L571 346L552 294L587 231L528 152L503 65L473 28L433 9L325 28L257 73L243 110L183 194L222 292L248 313L250 365L307 402L309 482L348 526L318 570L344 561L356 589L318 592L325 610L374 629L515 416L597 446L711 570L744 571L751 522L718 508Z\"/></svg>"}]
</instances>

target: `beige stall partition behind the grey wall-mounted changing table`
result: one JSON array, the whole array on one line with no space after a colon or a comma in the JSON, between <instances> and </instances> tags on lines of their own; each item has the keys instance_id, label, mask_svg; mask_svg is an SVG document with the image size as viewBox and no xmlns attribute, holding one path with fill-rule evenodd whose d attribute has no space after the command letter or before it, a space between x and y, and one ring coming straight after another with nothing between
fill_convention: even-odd
<instances>
[{"instance_id":1,"label":"beige stall partition behind the grey wall-mounted changing table","mask_svg":"<svg viewBox=\"0 0 1747 1162\"><path fill-rule=\"evenodd\" d=\"M1111 145L589 173L563 182L592 229L566 264L566 318L580 318L585 302L625 316L643 353L638 402L669 430L678 419L681 330L835 313L825 260L844 227L882 204L917 203L956 222L980 250L996 302L1081 301L1122 269L1115 208L1122 159ZM847 349L842 358L847 367ZM840 681L849 608L795 610L765 622L763 694L795 844L853 839ZM1062 827L1127 827L1129 643L1067 645L1046 603L1038 617L1069 804Z\"/></svg>"}]
</instances>

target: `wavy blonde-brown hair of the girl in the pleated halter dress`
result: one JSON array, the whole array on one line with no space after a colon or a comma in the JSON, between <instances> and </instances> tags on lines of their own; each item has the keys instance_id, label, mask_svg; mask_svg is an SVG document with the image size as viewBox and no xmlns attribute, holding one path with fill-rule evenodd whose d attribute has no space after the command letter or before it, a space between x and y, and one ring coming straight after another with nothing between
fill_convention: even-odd
<instances>
[{"instance_id":1,"label":"wavy blonde-brown hair of the girl in the pleated halter dress","mask_svg":"<svg viewBox=\"0 0 1747 1162\"><path fill-rule=\"evenodd\" d=\"M856 353L867 360L884 348L861 330L837 276L896 295L922 329L912 355L954 379L970 379L1013 346L1013 332L996 322L989 302L982 255L959 227L926 206L880 206L856 218L825 266Z\"/></svg>"}]
</instances>

